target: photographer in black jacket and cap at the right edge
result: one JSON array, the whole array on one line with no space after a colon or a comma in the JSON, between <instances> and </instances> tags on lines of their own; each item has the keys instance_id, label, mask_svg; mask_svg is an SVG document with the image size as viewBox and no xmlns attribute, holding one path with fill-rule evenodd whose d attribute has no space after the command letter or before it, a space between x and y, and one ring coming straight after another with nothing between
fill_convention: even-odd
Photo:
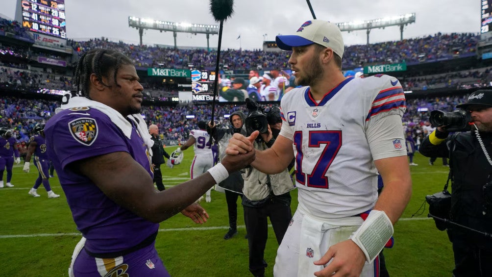
<instances>
[{"instance_id":1,"label":"photographer in black jacket and cap at the right edge","mask_svg":"<svg viewBox=\"0 0 492 277\"><path fill-rule=\"evenodd\" d=\"M451 221L490 234L492 90L473 92L466 103L457 107L464 111L431 113L431 123L437 128L424 139L419 151L427 157L450 157L454 181ZM450 131L463 131L470 126L469 132L449 135ZM455 256L453 276L492 276L492 239L455 224L448 223L446 227Z\"/></svg>"}]
</instances>

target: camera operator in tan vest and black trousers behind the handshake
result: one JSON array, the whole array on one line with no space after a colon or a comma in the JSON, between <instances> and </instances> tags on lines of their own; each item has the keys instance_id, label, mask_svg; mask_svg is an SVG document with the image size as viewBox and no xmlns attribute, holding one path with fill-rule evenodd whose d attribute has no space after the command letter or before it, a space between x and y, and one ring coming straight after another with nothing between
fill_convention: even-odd
<instances>
[{"instance_id":1,"label":"camera operator in tan vest and black trousers behind the handshake","mask_svg":"<svg viewBox=\"0 0 492 277\"><path fill-rule=\"evenodd\" d=\"M246 99L249 114L246 117L246 132L260 130L253 143L255 149L265 150L275 142L280 132L282 120L277 107L267 107L264 112L254 101ZM243 209L248 234L249 271L253 276L265 276L267 263L264 251L268 238L268 217L272 222L277 243L280 245L292 218L290 210L290 190L294 189L289 171L265 174L254 167L243 173Z\"/></svg>"}]
</instances>

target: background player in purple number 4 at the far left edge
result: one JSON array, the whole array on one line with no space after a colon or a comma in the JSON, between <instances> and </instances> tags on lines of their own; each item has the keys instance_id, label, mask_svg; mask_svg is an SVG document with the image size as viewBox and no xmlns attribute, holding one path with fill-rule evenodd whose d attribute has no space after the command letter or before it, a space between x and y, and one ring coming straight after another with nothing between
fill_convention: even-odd
<instances>
[{"instance_id":1,"label":"background player in purple number 4 at the far left edge","mask_svg":"<svg viewBox=\"0 0 492 277\"><path fill-rule=\"evenodd\" d=\"M7 168L7 183L6 187L12 187L12 167L15 163L21 162L21 156L17 146L15 137L12 136L12 130L0 128L0 188L3 188L3 171Z\"/></svg>"}]
</instances>

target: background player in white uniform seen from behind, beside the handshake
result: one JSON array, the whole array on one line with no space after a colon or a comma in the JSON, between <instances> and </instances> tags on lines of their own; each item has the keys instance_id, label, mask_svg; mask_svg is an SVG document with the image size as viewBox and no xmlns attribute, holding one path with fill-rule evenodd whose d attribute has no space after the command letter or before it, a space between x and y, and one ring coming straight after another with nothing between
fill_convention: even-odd
<instances>
[{"instance_id":1,"label":"background player in white uniform seen from behind, beside the handshake","mask_svg":"<svg viewBox=\"0 0 492 277\"><path fill-rule=\"evenodd\" d=\"M193 158L189 169L191 179L202 175L214 166L214 155L212 153L210 135L206 131L207 123L204 121L198 122L198 128L199 130L191 130L188 141L178 148L178 152L181 152L194 145L193 150L195 152L195 157ZM207 193L205 194L205 200L207 202L212 201L210 196L211 191L212 188L207 190Z\"/></svg>"}]
</instances>

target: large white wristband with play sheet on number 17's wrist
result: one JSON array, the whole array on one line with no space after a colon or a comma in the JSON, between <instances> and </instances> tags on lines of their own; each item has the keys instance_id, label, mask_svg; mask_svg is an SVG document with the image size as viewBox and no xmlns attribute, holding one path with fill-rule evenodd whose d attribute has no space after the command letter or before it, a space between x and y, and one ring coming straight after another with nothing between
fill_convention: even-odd
<instances>
[{"instance_id":1,"label":"large white wristband with play sheet on number 17's wrist","mask_svg":"<svg viewBox=\"0 0 492 277\"><path fill-rule=\"evenodd\" d=\"M350 239L362 249L366 260L372 263L393 236L393 232L393 224L388 215L383 211L372 210Z\"/></svg>"}]
</instances>

